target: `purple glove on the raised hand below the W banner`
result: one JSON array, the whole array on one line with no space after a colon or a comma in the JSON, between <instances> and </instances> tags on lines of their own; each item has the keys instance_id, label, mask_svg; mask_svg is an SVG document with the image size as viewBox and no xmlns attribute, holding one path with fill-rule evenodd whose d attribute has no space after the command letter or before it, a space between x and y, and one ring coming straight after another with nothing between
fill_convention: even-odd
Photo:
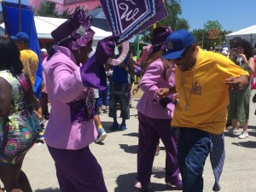
<instances>
[{"instance_id":1,"label":"purple glove on the raised hand below the W banner","mask_svg":"<svg viewBox=\"0 0 256 192\"><path fill-rule=\"evenodd\" d=\"M113 35L98 42L94 54L97 65L105 64L109 57L112 58L114 56L115 41L118 38L119 35Z\"/></svg>"}]
</instances>

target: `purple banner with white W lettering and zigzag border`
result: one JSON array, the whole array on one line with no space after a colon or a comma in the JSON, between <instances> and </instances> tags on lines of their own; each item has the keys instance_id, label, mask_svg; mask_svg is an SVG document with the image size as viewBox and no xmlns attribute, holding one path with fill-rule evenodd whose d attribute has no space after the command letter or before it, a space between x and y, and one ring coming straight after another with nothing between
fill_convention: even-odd
<instances>
[{"instance_id":1,"label":"purple banner with white W lettering and zigzag border","mask_svg":"<svg viewBox=\"0 0 256 192\"><path fill-rule=\"evenodd\" d=\"M161 0L101 0L102 9L119 43L132 38L167 16Z\"/></svg>"}]
</instances>

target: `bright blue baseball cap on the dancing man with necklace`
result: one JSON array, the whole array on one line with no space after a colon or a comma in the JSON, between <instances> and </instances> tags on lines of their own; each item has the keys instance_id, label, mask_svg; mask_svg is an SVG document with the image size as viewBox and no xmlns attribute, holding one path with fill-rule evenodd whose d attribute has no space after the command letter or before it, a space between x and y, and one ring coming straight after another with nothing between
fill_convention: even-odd
<instances>
[{"instance_id":1,"label":"bright blue baseball cap on the dancing man with necklace","mask_svg":"<svg viewBox=\"0 0 256 192\"><path fill-rule=\"evenodd\" d=\"M166 38L167 51L163 58L166 60L176 60L183 54L184 50L189 47L189 45L194 43L195 38L192 33L184 29L172 32Z\"/></svg>"}]
</instances>

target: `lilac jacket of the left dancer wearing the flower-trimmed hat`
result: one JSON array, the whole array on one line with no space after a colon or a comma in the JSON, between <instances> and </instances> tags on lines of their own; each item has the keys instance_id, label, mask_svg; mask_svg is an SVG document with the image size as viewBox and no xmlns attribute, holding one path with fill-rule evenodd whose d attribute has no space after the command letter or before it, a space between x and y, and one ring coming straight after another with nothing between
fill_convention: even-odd
<instances>
[{"instance_id":1,"label":"lilac jacket of the left dancer wearing the flower-trimmed hat","mask_svg":"<svg viewBox=\"0 0 256 192\"><path fill-rule=\"evenodd\" d=\"M96 127L93 119L73 121L69 102L83 101L84 87L79 67L72 52L55 45L55 55L43 63L51 110L44 134L45 142L53 148L80 149L93 143Z\"/></svg>"}]
</instances>

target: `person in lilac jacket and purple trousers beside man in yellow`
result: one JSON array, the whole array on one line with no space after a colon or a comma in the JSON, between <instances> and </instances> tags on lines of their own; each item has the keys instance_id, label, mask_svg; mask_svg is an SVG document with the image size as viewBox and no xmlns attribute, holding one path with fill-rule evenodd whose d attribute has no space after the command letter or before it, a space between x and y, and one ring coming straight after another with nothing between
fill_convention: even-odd
<instances>
[{"instance_id":1,"label":"person in lilac jacket and purple trousers beside man in yellow","mask_svg":"<svg viewBox=\"0 0 256 192\"><path fill-rule=\"evenodd\" d=\"M171 32L172 29L169 27L160 26L154 29L151 39L153 50L143 66L140 88L144 94L137 103L139 141L136 192L151 189L150 177L159 139L166 147L166 189L182 189L182 182L178 176L177 137L171 133L171 120L175 108L173 95L160 100L157 94L161 87L175 87L174 68L162 59L166 49L166 38Z\"/></svg>"}]
</instances>

